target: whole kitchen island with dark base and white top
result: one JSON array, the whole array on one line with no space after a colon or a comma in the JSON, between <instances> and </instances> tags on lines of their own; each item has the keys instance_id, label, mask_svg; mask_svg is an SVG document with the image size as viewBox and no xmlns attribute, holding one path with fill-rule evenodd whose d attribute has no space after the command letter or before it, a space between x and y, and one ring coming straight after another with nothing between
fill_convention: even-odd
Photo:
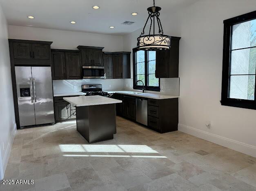
<instances>
[{"instance_id":1,"label":"whole kitchen island with dark base and white top","mask_svg":"<svg viewBox=\"0 0 256 191\"><path fill-rule=\"evenodd\" d=\"M63 98L76 106L76 129L89 142L113 139L116 133L116 103L121 100L103 96Z\"/></svg>"}]
</instances>

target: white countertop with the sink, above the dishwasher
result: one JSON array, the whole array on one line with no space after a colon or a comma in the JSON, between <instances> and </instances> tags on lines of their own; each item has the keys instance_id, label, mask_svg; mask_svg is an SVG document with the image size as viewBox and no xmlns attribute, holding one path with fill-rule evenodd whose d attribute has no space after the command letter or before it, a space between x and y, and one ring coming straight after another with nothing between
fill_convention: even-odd
<instances>
[{"instance_id":1,"label":"white countertop with the sink, above the dishwasher","mask_svg":"<svg viewBox=\"0 0 256 191\"><path fill-rule=\"evenodd\" d=\"M125 95L137 96L142 98L151 98L156 100L179 98L179 96L171 96L171 95L159 94L159 93L142 93L138 91L107 91L107 93L121 93Z\"/></svg>"}]
</instances>

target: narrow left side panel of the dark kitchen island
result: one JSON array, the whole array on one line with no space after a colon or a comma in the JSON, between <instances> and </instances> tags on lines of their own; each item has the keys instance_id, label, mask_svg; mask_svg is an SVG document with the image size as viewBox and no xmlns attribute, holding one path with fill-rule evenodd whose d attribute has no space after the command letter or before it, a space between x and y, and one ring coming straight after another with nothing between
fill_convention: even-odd
<instances>
[{"instance_id":1,"label":"narrow left side panel of the dark kitchen island","mask_svg":"<svg viewBox=\"0 0 256 191\"><path fill-rule=\"evenodd\" d=\"M76 130L89 142L89 106L76 107Z\"/></svg>"}]
</instances>

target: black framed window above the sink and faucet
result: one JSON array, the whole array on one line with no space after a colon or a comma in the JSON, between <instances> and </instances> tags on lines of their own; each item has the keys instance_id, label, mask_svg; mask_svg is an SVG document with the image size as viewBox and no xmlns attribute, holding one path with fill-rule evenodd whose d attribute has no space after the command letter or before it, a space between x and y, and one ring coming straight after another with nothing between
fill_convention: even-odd
<instances>
[{"instance_id":1,"label":"black framed window above the sink and faucet","mask_svg":"<svg viewBox=\"0 0 256 191\"><path fill-rule=\"evenodd\" d=\"M134 62L134 89L142 89L141 80L145 90L160 91L160 79L156 78L156 51L133 49Z\"/></svg>"}]
</instances>

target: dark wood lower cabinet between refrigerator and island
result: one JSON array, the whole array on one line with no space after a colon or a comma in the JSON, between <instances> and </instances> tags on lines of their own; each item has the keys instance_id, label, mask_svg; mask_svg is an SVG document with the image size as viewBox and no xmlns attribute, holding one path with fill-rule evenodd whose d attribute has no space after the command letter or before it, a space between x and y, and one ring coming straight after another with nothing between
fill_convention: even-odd
<instances>
[{"instance_id":1,"label":"dark wood lower cabinet between refrigerator and island","mask_svg":"<svg viewBox=\"0 0 256 191\"><path fill-rule=\"evenodd\" d=\"M72 97L72 96L65 96ZM76 119L76 107L63 100L63 97L54 97L55 122Z\"/></svg>"}]
</instances>

